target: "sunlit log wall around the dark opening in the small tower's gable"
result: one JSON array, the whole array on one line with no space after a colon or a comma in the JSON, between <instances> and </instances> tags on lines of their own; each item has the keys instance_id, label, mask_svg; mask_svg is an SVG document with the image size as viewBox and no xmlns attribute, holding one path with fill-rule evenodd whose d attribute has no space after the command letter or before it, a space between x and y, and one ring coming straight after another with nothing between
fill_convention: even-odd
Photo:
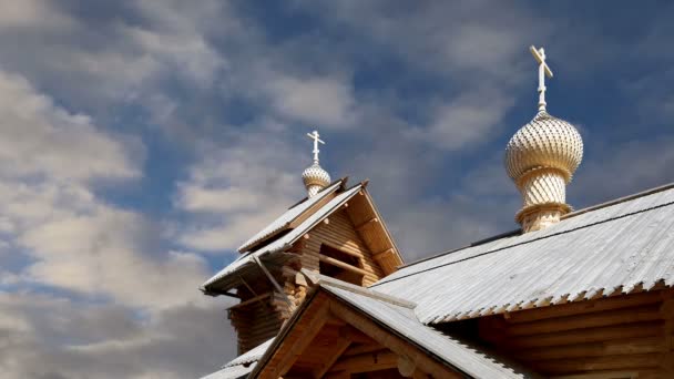
<instances>
[{"instance_id":1,"label":"sunlit log wall around the dark opening in the small tower's gable","mask_svg":"<svg viewBox=\"0 0 674 379\"><path fill-rule=\"evenodd\" d=\"M302 266L307 269L319 272L318 254L320 245L327 244L347 254L360 257L362 269L368 272L364 277L364 285L369 286L384 277L379 265L372 259L371 252L366 247L360 236L356 233L354 224L341 209L328 217L328 224L321 223L309 232L309 238L302 240L297 249L302 253Z\"/></svg>"}]
</instances>

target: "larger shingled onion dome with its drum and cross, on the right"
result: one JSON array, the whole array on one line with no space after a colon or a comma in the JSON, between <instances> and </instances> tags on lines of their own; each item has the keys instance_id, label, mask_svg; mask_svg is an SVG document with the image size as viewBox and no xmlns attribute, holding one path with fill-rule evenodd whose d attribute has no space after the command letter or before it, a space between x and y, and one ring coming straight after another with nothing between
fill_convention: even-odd
<instances>
[{"instance_id":1,"label":"larger shingled onion dome with its drum and cross, on the right","mask_svg":"<svg viewBox=\"0 0 674 379\"><path fill-rule=\"evenodd\" d=\"M522 194L515 221L533 232L559 223L571 207L566 185L583 160L583 140L573 125L545 111L545 51L529 49L539 62L539 112L522 126L506 147L506 170Z\"/></svg>"}]
</instances>

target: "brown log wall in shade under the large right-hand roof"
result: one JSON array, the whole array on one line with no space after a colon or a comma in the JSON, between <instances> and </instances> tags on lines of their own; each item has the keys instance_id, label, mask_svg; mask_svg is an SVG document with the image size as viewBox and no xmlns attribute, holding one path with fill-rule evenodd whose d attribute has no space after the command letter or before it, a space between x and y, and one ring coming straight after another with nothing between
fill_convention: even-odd
<instances>
[{"instance_id":1,"label":"brown log wall in shade under the large right-hand roof","mask_svg":"<svg viewBox=\"0 0 674 379\"><path fill-rule=\"evenodd\" d=\"M623 295L479 320L480 337L550 376L674 378L672 290Z\"/></svg>"}]
</instances>

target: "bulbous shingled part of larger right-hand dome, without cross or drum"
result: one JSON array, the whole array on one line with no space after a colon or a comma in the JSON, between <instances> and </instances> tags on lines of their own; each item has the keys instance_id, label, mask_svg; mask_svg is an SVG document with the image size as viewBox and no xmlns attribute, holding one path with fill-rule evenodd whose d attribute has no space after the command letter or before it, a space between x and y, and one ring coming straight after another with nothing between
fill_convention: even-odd
<instances>
[{"instance_id":1,"label":"bulbous shingled part of larger right-hand dome, without cross or drum","mask_svg":"<svg viewBox=\"0 0 674 379\"><path fill-rule=\"evenodd\" d=\"M583 160L583 140L564 120L539 112L510 139L506 147L506 170L517 181L535 168L558 168L566 183Z\"/></svg>"}]
</instances>

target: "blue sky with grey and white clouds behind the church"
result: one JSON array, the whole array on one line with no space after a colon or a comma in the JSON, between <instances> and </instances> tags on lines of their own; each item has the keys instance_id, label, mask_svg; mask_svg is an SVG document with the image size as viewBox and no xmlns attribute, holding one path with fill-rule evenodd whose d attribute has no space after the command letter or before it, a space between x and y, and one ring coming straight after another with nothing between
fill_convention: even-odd
<instances>
[{"instance_id":1,"label":"blue sky with grey and white clouds behind the church","mask_svg":"<svg viewBox=\"0 0 674 379\"><path fill-rule=\"evenodd\" d=\"M235 355L200 285L303 198L318 130L406 260L517 228L503 168L573 123L575 208L674 178L668 1L0 0L0 372L196 378Z\"/></svg>"}]
</instances>

